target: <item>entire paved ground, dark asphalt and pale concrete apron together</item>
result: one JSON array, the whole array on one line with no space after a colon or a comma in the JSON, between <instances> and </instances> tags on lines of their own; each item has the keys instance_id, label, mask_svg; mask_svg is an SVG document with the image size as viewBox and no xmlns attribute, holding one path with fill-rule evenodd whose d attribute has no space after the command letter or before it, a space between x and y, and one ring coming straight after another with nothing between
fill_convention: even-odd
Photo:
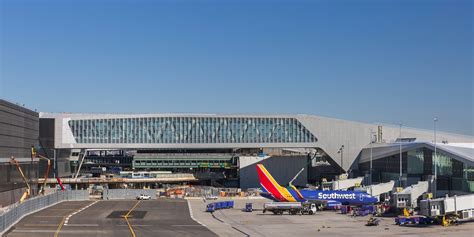
<instances>
[{"instance_id":1,"label":"entire paved ground, dark asphalt and pale concrete apron together","mask_svg":"<svg viewBox=\"0 0 474 237\"><path fill-rule=\"evenodd\" d=\"M223 201L226 199L219 199ZM205 212L202 199L62 202L24 217L8 237L46 236L406 236L472 237L474 222L442 227L397 226L393 217L365 226L369 217L335 211L315 215L262 213L266 199L237 199L233 209ZM214 202L214 201L212 201ZM253 212L243 212L245 203ZM127 218L125 218L127 216Z\"/></svg>"}]
</instances>

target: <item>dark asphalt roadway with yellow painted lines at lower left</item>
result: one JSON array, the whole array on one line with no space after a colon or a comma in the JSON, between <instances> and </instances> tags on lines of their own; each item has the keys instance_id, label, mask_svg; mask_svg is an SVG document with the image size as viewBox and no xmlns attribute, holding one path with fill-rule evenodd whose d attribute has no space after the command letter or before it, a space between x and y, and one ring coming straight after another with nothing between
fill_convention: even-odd
<instances>
[{"instance_id":1,"label":"dark asphalt roadway with yellow painted lines at lower left","mask_svg":"<svg viewBox=\"0 0 474 237\"><path fill-rule=\"evenodd\" d=\"M63 202L23 218L6 234L8 237L84 235L216 236L190 217L186 200L178 199Z\"/></svg>"}]
</instances>

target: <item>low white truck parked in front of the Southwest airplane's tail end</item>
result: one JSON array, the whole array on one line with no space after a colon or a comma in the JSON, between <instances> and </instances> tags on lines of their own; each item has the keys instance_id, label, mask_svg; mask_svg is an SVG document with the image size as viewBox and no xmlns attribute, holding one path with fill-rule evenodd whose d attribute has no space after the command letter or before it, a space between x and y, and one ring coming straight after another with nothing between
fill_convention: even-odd
<instances>
[{"instance_id":1,"label":"low white truck parked in front of the Southwest airplane's tail end","mask_svg":"<svg viewBox=\"0 0 474 237\"><path fill-rule=\"evenodd\" d=\"M288 212L290 215L316 213L316 204L309 202L270 202L263 204L263 213L270 211L275 215Z\"/></svg>"}]
</instances>

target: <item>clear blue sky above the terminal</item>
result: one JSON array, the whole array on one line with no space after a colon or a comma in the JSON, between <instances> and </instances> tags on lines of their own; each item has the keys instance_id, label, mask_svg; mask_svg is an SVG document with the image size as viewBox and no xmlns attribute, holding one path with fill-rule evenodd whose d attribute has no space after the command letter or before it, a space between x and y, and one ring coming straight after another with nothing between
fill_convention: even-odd
<instances>
[{"instance_id":1,"label":"clear blue sky above the terminal","mask_svg":"<svg viewBox=\"0 0 474 237\"><path fill-rule=\"evenodd\" d=\"M471 1L1 0L0 97L474 135Z\"/></svg>"}]
</instances>

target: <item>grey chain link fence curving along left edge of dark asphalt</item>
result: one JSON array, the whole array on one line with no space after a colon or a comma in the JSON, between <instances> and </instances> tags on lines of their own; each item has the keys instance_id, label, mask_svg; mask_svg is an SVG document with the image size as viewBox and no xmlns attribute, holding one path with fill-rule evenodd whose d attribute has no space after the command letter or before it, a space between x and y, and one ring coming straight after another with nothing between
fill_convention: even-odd
<instances>
[{"instance_id":1,"label":"grey chain link fence curving along left edge of dark asphalt","mask_svg":"<svg viewBox=\"0 0 474 237\"><path fill-rule=\"evenodd\" d=\"M8 206L3 212L0 212L0 236L26 215L59 202L84 200L89 200L89 192L87 190L68 190L30 198L22 203Z\"/></svg>"}]
</instances>

